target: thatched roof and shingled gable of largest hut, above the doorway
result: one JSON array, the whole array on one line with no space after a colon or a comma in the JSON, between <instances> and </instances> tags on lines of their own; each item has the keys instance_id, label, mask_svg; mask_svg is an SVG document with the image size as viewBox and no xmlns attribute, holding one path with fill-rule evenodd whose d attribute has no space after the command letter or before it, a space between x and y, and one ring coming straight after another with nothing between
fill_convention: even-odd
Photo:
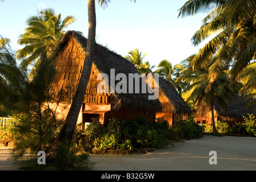
<instances>
[{"instance_id":1,"label":"thatched roof and shingled gable of largest hut, above the doorway","mask_svg":"<svg viewBox=\"0 0 256 182\"><path fill-rule=\"evenodd\" d=\"M53 87L58 90L64 90L63 92L67 93L66 96L72 96L77 88L85 59L86 45L87 39L84 36L79 35L75 31L68 31L59 46L58 56L54 63L57 68L57 76ZM131 61L96 44L93 67L91 69L91 76L87 85L84 102L111 102L113 109L125 108L149 111L162 109L161 102L159 100L149 100L149 94L147 93L98 94L97 90L95 90L98 82L95 79L99 73L105 73L110 79L110 69L115 69L115 75L124 73L127 78L129 73L138 73ZM119 81L115 81L115 84L117 82ZM70 100L70 98L67 97L67 100Z\"/></svg>"}]
</instances>

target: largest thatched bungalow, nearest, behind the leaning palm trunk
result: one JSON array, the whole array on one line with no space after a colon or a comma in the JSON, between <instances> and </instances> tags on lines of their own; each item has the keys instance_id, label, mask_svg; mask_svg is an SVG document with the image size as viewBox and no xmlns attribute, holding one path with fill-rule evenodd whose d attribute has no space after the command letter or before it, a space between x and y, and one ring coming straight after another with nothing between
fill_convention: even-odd
<instances>
[{"instance_id":1,"label":"largest thatched bungalow, nearest, behind the leaning palm trunk","mask_svg":"<svg viewBox=\"0 0 256 182\"><path fill-rule=\"evenodd\" d=\"M56 94L55 100L70 105L72 97L77 89L79 78L81 76L83 63L85 59L85 50L87 39L75 31L68 31L62 39L59 46L59 52L55 59L56 68L55 81L51 85L52 92L61 92L60 96ZM98 118L99 121L107 125L110 118L134 119L139 116L154 121L155 112L162 109L159 100L149 100L147 93L99 93L97 85L104 81L97 80L100 73L105 73L111 77L111 70L114 70L114 76L123 73L127 77L129 74L138 73L131 61L126 60L117 53L96 44L91 75L87 84L85 98L81 107L81 114L78 123L87 123L91 118ZM139 74L139 73L138 73ZM117 85L119 81L115 80ZM112 88L111 80L108 81L109 89ZM62 117L66 117L69 106L62 112Z\"/></svg>"}]
</instances>

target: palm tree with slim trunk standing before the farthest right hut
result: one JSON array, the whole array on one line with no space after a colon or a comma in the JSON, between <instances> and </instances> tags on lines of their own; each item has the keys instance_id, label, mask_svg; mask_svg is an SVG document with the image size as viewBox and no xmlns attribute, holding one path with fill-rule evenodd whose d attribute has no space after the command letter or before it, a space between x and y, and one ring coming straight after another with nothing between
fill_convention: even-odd
<instances>
[{"instance_id":1,"label":"palm tree with slim trunk standing before the farthest right hut","mask_svg":"<svg viewBox=\"0 0 256 182\"><path fill-rule=\"evenodd\" d=\"M210 106L211 117L213 121L213 133L217 133L214 121L214 102L217 102L223 110L226 110L227 104L235 97L235 93L238 93L242 88L240 82L233 82L233 85L229 84L229 70L222 71L221 75L212 83L211 89L207 89L210 78L209 67L194 70L193 59L197 55L191 55L183 61L184 69L181 72L182 80L188 85L183 90L183 98L186 102L192 102L196 109L203 102Z\"/></svg>"}]
</instances>

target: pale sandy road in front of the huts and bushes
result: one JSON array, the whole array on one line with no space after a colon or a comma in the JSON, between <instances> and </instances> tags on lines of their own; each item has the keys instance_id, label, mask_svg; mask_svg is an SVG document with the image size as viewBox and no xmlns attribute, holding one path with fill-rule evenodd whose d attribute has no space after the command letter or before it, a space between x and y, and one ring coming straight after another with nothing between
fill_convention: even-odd
<instances>
[{"instance_id":1,"label":"pale sandy road in front of the huts and bushes","mask_svg":"<svg viewBox=\"0 0 256 182\"><path fill-rule=\"evenodd\" d=\"M217 164L210 165L210 151L217 153ZM0 146L0 171L15 170L11 149ZM147 154L120 156L90 155L95 171L256 171L256 137L212 137L185 140Z\"/></svg>"}]
</instances>

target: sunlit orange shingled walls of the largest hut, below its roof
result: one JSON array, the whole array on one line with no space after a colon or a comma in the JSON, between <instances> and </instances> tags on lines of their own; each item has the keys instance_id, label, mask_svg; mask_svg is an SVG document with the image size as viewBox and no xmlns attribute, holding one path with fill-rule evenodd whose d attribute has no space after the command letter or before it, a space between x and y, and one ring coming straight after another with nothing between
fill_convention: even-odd
<instances>
[{"instance_id":1,"label":"sunlit orange shingled walls of the largest hut, below its roof","mask_svg":"<svg viewBox=\"0 0 256 182\"><path fill-rule=\"evenodd\" d=\"M55 93L55 99L61 98L61 107L59 107L59 113L61 114L59 114L58 118L66 118L75 90L77 89L79 78L81 77L84 59L85 51L72 38L55 61L57 75L51 85L51 92ZM108 94L99 93L97 90L99 82L102 81L97 81L98 75L99 73L93 65L81 112L78 117L78 123L91 122L92 117L98 118L103 125L106 125L110 118L135 119L142 116L150 121L155 120L155 113L147 114L146 111L142 110L110 110L111 100L108 99ZM61 88L62 95L58 97L57 93ZM54 104L51 105L55 106Z\"/></svg>"}]
</instances>

